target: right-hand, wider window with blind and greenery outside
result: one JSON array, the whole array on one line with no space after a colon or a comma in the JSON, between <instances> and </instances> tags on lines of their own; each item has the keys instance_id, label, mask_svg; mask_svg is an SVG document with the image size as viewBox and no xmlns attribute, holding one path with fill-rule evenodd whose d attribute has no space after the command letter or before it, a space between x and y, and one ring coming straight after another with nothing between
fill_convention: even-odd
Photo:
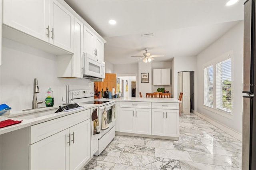
<instances>
[{"instance_id":1,"label":"right-hand, wider window with blind and greenery outside","mask_svg":"<svg viewBox=\"0 0 256 170\"><path fill-rule=\"evenodd\" d=\"M216 64L216 107L231 113L231 60Z\"/></svg>"}]
</instances>

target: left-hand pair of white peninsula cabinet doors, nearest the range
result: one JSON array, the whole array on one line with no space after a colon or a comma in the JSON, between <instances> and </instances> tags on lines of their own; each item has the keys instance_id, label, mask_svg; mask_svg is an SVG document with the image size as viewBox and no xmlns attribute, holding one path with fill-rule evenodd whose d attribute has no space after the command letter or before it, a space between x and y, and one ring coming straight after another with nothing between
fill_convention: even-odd
<instances>
[{"instance_id":1,"label":"left-hand pair of white peninsula cabinet doors, nearest the range","mask_svg":"<svg viewBox=\"0 0 256 170\"><path fill-rule=\"evenodd\" d=\"M151 109L120 108L120 132L151 134Z\"/></svg>"}]
</instances>

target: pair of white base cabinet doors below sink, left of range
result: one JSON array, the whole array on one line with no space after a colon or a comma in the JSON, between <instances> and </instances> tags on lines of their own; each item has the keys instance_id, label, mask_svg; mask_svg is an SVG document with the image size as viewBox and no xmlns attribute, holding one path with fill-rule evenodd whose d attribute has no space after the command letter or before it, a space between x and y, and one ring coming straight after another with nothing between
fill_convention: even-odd
<instances>
[{"instance_id":1,"label":"pair of white base cabinet doors below sink, left of range","mask_svg":"<svg viewBox=\"0 0 256 170\"><path fill-rule=\"evenodd\" d=\"M30 144L30 170L81 168L90 159L91 120L77 124L76 121L87 113L88 111L80 112L78 117L75 117L76 120L70 117L69 120L75 125Z\"/></svg>"}]
</instances>

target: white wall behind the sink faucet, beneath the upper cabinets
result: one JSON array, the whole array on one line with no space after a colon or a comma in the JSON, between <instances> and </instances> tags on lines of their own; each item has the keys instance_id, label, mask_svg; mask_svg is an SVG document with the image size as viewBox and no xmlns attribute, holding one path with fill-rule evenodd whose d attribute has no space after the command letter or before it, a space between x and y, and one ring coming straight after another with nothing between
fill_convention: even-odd
<instances>
[{"instance_id":1,"label":"white wall behind the sink faucet, beneath the upper cabinets","mask_svg":"<svg viewBox=\"0 0 256 170\"><path fill-rule=\"evenodd\" d=\"M46 91L52 88L54 105L66 99L66 85L70 90L90 89L88 79L57 78L57 56L39 49L2 38L0 66L0 103L12 107L11 113L32 108L33 82L38 79L37 99L45 101ZM39 104L38 107L45 106Z\"/></svg>"}]
</instances>

